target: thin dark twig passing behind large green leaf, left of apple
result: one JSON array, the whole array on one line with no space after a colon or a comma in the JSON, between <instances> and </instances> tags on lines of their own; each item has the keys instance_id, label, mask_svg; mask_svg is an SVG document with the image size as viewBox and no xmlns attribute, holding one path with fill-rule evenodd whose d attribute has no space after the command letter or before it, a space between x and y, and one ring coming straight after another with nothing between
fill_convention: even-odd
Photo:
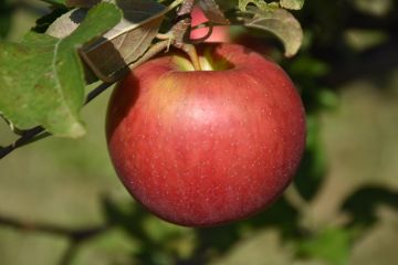
<instances>
[{"instance_id":1,"label":"thin dark twig passing behind large green leaf, left of apple","mask_svg":"<svg viewBox=\"0 0 398 265\"><path fill-rule=\"evenodd\" d=\"M95 89L88 93L84 105L87 105L91 100L101 95L113 84L114 83L102 83L101 85L98 85ZM15 149L32 144L36 140L46 138L49 136L51 136L51 134L45 131L45 129L41 126L34 127L30 130L25 130L22 136L13 144L6 147L0 147L0 160L10 155Z\"/></svg>"}]
</instances>

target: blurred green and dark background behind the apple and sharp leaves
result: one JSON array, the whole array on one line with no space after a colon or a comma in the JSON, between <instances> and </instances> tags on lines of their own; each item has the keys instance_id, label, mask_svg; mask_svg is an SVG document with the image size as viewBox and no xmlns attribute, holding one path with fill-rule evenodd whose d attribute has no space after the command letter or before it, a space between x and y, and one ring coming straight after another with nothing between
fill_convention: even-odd
<instances>
[{"instance_id":1,"label":"blurred green and dark background behind the apple and sharp leaves","mask_svg":"<svg viewBox=\"0 0 398 265\"><path fill-rule=\"evenodd\" d=\"M46 12L1 0L0 40L21 40ZM398 1L306 0L295 15L305 42L290 60L274 39L231 30L282 64L307 112L302 167L274 205L214 229L143 210L107 156L108 91L84 108L84 138L48 138L0 161L0 264L398 264ZM14 139L0 120L0 146Z\"/></svg>"}]
</instances>

